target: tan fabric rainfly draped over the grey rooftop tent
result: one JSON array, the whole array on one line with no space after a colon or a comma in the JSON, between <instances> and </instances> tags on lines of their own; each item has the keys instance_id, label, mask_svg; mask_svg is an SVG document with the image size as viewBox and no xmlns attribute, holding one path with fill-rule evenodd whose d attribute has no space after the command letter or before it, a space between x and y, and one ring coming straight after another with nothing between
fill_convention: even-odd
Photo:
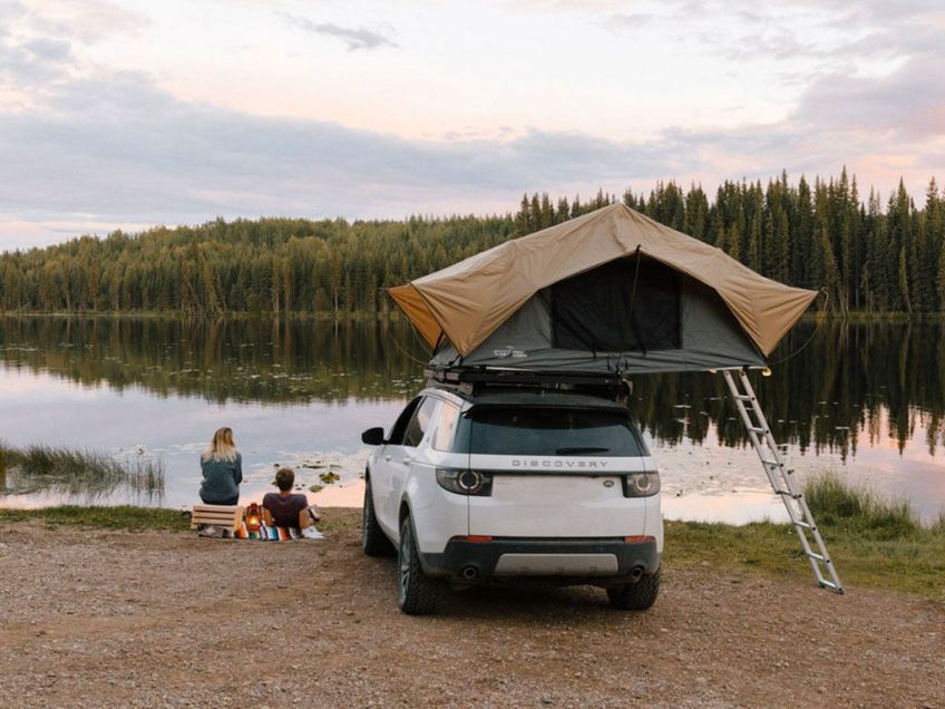
<instances>
[{"instance_id":1,"label":"tan fabric rainfly draped over the grey rooftop tent","mask_svg":"<svg viewBox=\"0 0 945 709\"><path fill-rule=\"evenodd\" d=\"M766 357L817 297L623 204L505 242L388 293L430 347L445 336L466 356L540 289L637 247L714 289Z\"/></svg>"}]
</instances>

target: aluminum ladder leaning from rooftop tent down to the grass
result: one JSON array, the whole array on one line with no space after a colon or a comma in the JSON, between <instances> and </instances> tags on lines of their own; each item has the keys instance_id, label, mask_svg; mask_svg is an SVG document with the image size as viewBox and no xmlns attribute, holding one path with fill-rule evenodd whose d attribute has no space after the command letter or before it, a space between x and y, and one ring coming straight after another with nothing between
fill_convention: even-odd
<instances>
[{"instance_id":1,"label":"aluminum ladder leaning from rooftop tent down to the grass","mask_svg":"<svg viewBox=\"0 0 945 709\"><path fill-rule=\"evenodd\" d=\"M754 389L751 388L751 382L748 380L748 373L743 369L735 371L723 369L722 376L725 378L725 383L729 385L729 391L732 394L735 408L738 408L741 420L748 430L751 445L758 453L758 457L761 458L764 474L768 476L771 487L774 488L774 493L788 509L788 516L797 531L798 537L800 537L801 546L803 546L803 552L814 570L817 583L824 589L842 593L844 586L837 576L837 570L834 569L824 540L820 538L820 532L817 530L807 501L803 498L800 486L795 478L795 472L785 467L778 444L774 441L774 436L771 435L771 428L761 411L761 405L758 404ZM741 389L739 389L739 383Z\"/></svg>"}]
</instances>

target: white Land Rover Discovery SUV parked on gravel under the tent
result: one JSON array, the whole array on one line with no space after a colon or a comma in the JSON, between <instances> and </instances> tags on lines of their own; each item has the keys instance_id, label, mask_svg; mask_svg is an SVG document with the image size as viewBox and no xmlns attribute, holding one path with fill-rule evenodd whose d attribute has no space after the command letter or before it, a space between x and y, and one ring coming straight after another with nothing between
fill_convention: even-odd
<instances>
[{"instance_id":1,"label":"white Land Rover Discovery SUV parked on gravel under the tent","mask_svg":"<svg viewBox=\"0 0 945 709\"><path fill-rule=\"evenodd\" d=\"M625 406L574 392L429 388L366 472L362 542L398 555L398 600L432 613L446 585L594 584L621 609L660 590L660 476Z\"/></svg>"}]
</instances>

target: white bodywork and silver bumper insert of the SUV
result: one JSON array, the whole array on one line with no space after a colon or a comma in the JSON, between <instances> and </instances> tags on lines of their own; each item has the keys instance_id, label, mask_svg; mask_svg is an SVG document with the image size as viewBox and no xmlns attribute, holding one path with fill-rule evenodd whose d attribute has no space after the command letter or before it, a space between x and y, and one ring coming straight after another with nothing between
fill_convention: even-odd
<instances>
[{"instance_id":1,"label":"white bodywork and silver bumper insert of the SUV","mask_svg":"<svg viewBox=\"0 0 945 709\"><path fill-rule=\"evenodd\" d=\"M470 402L441 389L426 389L419 396L449 401L462 411ZM432 421L439 420L442 405ZM467 535L528 538L622 538L652 536L663 550L663 521L660 495L625 497L622 475L655 472L649 456L506 456L447 453L431 447L433 425L420 445L381 445L368 463L378 523L398 543L400 509L410 509L418 551L438 554L450 538ZM495 472L489 496L460 495L439 486L436 469ZM610 569L606 560L562 556L532 561L512 559L503 564L503 575L547 573L597 573ZM518 571L516 571L518 570ZM498 572L497 572L498 573ZM605 573L601 571L600 573Z\"/></svg>"}]
</instances>

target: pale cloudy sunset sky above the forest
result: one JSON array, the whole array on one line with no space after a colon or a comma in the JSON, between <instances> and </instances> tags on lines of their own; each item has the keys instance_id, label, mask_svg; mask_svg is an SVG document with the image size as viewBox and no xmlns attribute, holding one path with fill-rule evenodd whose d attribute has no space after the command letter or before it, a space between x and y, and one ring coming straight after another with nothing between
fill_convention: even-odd
<instances>
[{"instance_id":1,"label":"pale cloudy sunset sky above the forest","mask_svg":"<svg viewBox=\"0 0 945 709\"><path fill-rule=\"evenodd\" d=\"M942 0L0 0L0 250L845 164L945 179Z\"/></svg>"}]
</instances>

